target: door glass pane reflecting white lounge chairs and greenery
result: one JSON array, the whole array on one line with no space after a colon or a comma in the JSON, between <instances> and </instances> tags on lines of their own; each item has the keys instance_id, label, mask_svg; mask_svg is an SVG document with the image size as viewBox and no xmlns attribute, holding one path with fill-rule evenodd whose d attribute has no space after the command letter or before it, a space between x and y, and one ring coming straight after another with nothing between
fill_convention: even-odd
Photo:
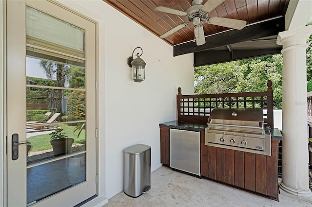
<instances>
[{"instance_id":1,"label":"door glass pane reflecting white lounge chairs and greenery","mask_svg":"<svg viewBox=\"0 0 312 207\"><path fill-rule=\"evenodd\" d=\"M27 132L36 132L34 124L85 120L85 91L26 87ZM41 130L42 130L41 129Z\"/></svg>"}]
</instances>

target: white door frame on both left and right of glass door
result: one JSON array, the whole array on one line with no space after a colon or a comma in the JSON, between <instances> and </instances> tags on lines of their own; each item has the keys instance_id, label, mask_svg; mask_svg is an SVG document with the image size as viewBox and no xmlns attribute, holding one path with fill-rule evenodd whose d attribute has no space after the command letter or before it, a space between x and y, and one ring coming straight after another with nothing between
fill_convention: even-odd
<instances>
[{"instance_id":1,"label":"white door frame on both left and right of glass door","mask_svg":"<svg viewBox=\"0 0 312 207\"><path fill-rule=\"evenodd\" d=\"M58 0L60 4L66 5L64 7L68 8L71 11L78 11L84 17L88 18L90 21L94 21L97 25L97 77L101 77L101 81L98 81L98 88L101 90L101 93L98 93L98 114L102 114L104 116L98 117L98 121L101 124L101 127L98 130L98 148L102 150L98 150L98 197L93 199L91 202L85 204L85 206L92 206L92 207L101 207L105 203L108 202L106 197L106 164L105 164L105 19L100 17L97 13L91 12L90 10L86 10L82 5L80 5L77 1L73 0ZM6 34L6 0L0 0L0 21L3 23L0 26L0 59L2 64L0 64L0 206L6 206L6 110L5 110L5 93L6 93L6 84L5 79L6 77L5 68L6 68L6 41L5 41L5 34ZM93 20L94 19L94 20ZM101 36L99 40L99 36ZM100 59L98 57L101 57ZM99 70L98 68L101 67L102 69Z\"/></svg>"}]
</instances>

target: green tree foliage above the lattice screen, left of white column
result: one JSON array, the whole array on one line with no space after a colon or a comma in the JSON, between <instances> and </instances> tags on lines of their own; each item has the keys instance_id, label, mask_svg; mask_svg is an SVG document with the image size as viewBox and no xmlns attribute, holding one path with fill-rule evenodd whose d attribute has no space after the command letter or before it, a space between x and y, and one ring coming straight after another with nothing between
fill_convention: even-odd
<instances>
[{"instance_id":1,"label":"green tree foliage above the lattice screen, left of white column","mask_svg":"<svg viewBox=\"0 0 312 207\"><path fill-rule=\"evenodd\" d=\"M195 93L266 91L273 83L276 108L282 107L282 55L258 57L195 68Z\"/></svg>"}]
</instances>

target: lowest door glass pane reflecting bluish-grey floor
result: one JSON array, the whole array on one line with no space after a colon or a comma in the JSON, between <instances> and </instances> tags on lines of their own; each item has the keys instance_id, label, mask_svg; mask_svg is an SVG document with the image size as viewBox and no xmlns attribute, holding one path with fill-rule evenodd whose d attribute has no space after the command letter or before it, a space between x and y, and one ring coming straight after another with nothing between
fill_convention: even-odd
<instances>
[{"instance_id":1,"label":"lowest door glass pane reflecting bluish-grey floor","mask_svg":"<svg viewBox=\"0 0 312 207\"><path fill-rule=\"evenodd\" d=\"M27 206L86 181L82 153L27 169Z\"/></svg>"}]
</instances>

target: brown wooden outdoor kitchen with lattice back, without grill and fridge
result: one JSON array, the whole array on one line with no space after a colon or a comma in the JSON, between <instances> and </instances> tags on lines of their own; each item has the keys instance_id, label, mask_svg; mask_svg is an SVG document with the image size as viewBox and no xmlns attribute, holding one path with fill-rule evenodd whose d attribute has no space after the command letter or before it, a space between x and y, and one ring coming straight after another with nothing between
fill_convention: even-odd
<instances>
[{"instance_id":1,"label":"brown wooden outdoor kitchen with lattice back, without grill and fridge","mask_svg":"<svg viewBox=\"0 0 312 207\"><path fill-rule=\"evenodd\" d=\"M182 95L181 92L179 88L177 121L159 124L161 163L172 167L170 129L197 131L200 132L201 177L278 200L277 143L282 137L273 126L272 82L268 82L267 91L261 92L203 95ZM265 108L264 127L270 131L271 155L244 152L241 148L208 146L205 143L205 128L214 107L233 110Z\"/></svg>"}]
</instances>

